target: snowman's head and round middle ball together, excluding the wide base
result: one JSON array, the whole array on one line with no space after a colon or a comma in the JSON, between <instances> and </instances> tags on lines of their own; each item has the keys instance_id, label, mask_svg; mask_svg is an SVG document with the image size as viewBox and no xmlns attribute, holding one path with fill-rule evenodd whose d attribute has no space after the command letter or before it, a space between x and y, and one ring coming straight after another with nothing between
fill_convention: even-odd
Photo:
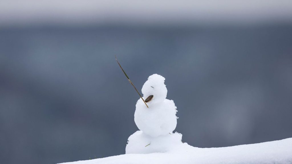
<instances>
[{"instance_id":1,"label":"snowman's head and round middle ball together, excluding the wide base","mask_svg":"<svg viewBox=\"0 0 292 164\"><path fill-rule=\"evenodd\" d=\"M165 78L158 74L148 77L142 87L144 104L140 98L136 104L134 115L138 129L151 137L172 133L176 127L177 110L173 100L166 99Z\"/></svg>"}]
</instances>

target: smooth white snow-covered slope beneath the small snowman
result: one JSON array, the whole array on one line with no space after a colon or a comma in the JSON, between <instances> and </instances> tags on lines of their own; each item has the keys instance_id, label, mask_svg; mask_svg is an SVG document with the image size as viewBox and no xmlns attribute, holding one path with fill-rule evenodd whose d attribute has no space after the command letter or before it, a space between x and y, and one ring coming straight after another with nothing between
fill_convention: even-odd
<instances>
[{"instance_id":1,"label":"smooth white snow-covered slope beneath the small snowman","mask_svg":"<svg viewBox=\"0 0 292 164\"><path fill-rule=\"evenodd\" d=\"M149 145L151 146L151 145ZM148 147L148 146L147 146ZM167 153L123 154L66 164L218 164L218 163L292 163L292 138L221 148L197 148L184 143Z\"/></svg>"}]
</instances>

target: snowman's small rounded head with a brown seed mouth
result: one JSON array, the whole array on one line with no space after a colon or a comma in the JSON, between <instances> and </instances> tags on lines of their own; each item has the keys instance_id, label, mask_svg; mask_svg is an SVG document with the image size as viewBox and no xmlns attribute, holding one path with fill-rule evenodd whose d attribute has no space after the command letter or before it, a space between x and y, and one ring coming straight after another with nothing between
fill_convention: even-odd
<instances>
[{"instance_id":1,"label":"snowman's small rounded head with a brown seed mouth","mask_svg":"<svg viewBox=\"0 0 292 164\"><path fill-rule=\"evenodd\" d=\"M147 105L159 104L166 99L167 89L164 84L165 78L158 74L148 77L142 87L142 94Z\"/></svg>"}]
</instances>

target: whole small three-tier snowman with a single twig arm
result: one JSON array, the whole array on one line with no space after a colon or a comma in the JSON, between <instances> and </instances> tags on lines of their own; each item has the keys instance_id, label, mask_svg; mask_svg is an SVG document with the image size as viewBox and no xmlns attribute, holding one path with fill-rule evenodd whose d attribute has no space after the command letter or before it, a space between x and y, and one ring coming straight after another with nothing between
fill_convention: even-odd
<instances>
[{"instance_id":1,"label":"whole small three-tier snowman with a single twig arm","mask_svg":"<svg viewBox=\"0 0 292 164\"><path fill-rule=\"evenodd\" d=\"M128 138L126 154L167 152L182 145L182 135L173 133L177 110L172 100L166 99L165 78L153 74L142 87L143 99L136 104L135 123L139 130Z\"/></svg>"}]
</instances>

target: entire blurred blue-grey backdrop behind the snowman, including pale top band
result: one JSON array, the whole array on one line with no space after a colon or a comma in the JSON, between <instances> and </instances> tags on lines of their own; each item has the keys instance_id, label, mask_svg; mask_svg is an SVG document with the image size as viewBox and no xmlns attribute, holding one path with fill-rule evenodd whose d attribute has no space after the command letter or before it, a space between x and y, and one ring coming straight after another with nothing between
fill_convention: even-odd
<instances>
[{"instance_id":1,"label":"entire blurred blue-grey backdrop behind the snowman, including pale top band","mask_svg":"<svg viewBox=\"0 0 292 164\"><path fill-rule=\"evenodd\" d=\"M219 4L220 3L220 4ZM292 137L291 1L1 1L0 162L125 153L147 77L196 147Z\"/></svg>"}]
</instances>

